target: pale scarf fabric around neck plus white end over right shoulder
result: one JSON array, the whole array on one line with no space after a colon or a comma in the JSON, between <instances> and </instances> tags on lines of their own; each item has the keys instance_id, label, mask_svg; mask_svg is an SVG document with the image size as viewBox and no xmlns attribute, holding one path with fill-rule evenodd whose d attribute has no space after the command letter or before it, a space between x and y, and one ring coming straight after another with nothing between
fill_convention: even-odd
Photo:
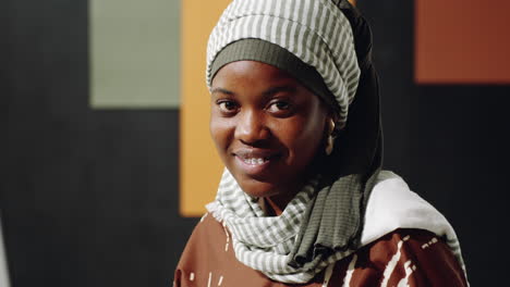
<instances>
[{"instance_id":1,"label":"pale scarf fabric around neck plus white end over right shoulder","mask_svg":"<svg viewBox=\"0 0 510 287\"><path fill-rule=\"evenodd\" d=\"M391 172L382 171L375 179L359 246L332 251L301 266L291 263L292 250L301 245L299 234L304 224L304 211L306 203L313 201L317 182L306 185L280 216L271 217L265 216L256 199L246 196L227 170L221 182L217 199L207 204L207 210L229 228L238 260L275 280L306 283L327 265L398 228L426 229L441 237L466 275L459 240L451 225Z\"/></svg>"}]
</instances>

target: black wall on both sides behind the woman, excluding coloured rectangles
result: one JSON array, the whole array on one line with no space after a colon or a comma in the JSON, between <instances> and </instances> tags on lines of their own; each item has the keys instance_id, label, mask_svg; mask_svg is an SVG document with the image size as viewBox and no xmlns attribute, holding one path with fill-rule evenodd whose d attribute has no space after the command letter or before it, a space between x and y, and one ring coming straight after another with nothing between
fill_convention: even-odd
<instances>
[{"instance_id":1,"label":"black wall on both sides behind the woman, excluding coloured rectangles","mask_svg":"<svg viewBox=\"0 0 510 287\"><path fill-rule=\"evenodd\" d=\"M496 285L510 255L510 87L416 85L412 1L359 4L374 28L385 166L451 221L472 286ZM169 286L197 222L178 214L179 110L88 107L87 9L85 0L0 9L0 207L13 286Z\"/></svg>"}]
</instances>

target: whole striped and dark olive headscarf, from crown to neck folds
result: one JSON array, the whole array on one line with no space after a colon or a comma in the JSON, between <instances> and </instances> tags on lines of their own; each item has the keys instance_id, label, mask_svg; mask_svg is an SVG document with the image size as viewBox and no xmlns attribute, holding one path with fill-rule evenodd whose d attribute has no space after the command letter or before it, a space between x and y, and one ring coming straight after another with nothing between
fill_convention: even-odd
<instances>
[{"instance_id":1,"label":"whole striped and dark olive headscarf, from crown to neck folds","mask_svg":"<svg viewBox=\"0 0 510 287\"><path fill-rule=\"evenodd\" d=\"M209 38L208 85L222 65L239 60L288 71L326 102L329 98L345 126L317 176L280 216L264 216L228 170L207 205L232 233L238 260L275 280L306 283L360 248L366 202L380 170L371 29L347 0L234 0Z\"/></svg>"}]
</instances>

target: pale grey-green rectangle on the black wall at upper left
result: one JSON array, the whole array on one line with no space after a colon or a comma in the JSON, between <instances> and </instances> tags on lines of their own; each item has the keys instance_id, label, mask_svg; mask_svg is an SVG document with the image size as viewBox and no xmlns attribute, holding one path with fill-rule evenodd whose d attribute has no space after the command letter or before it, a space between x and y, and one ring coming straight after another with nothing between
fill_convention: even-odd
<instances>
[{"instance_id":1,"label":"pale grey-green rectangle on the black wall at upper left","mask_svg":"<svg viewBox=\"0 0 510 287\"><path fill-rule=\"evenodd\" d=\"M180 1L90 0L90 105L179 105Z\"/></svg>"}]
</instances>

